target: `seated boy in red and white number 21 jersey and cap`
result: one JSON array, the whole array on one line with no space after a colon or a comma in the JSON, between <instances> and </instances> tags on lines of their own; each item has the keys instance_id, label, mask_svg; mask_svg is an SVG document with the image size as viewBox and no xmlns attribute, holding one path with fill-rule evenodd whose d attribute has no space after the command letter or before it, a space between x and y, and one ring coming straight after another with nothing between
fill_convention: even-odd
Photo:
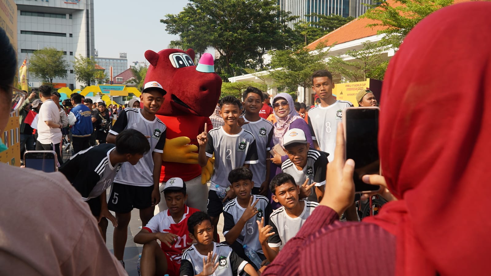
<instances>
[{"instance_id":1,"label":"seated boy in red and white number 21 jersey and cap","mask_svg":"<svg viewBox=\"0 0 491 276\"><path fill-rule=\"evenodd\" d=\"M199 210L184 204L188 195L181 178L170 178L164 187L167 210L155 215L135 236L135 243L143 245L141 275L179 275L184 249L191 246L188 218ZM161 246L157 243L161 242Z\"/></svg>"}]
</instances>

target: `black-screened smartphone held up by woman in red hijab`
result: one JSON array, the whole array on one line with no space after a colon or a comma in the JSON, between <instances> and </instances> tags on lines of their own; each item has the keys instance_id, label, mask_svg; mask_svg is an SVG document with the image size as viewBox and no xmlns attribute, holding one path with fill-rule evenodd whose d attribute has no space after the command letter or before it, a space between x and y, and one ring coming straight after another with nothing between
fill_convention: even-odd
<instances>
[{"instance_id":1,"label":"black-screened smartphone held up by woman in red hijab","mask_svg":"<svg viewBox=\"0 0 491 276\"><path fill-rule=\"evenodd\" d=\"M380 174L378 146L378 107L356 107L343 110L346 159L355 161L355 193L370 193L380 189L378 185L361 180L365 174Z\"/></svg>"}]
</instances>

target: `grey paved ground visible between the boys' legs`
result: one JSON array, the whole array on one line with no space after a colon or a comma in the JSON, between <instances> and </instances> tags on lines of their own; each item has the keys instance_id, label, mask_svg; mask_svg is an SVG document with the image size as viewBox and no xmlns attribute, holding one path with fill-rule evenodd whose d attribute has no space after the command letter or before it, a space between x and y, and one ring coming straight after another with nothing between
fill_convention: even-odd
<instances>
[{"instance_id":1,"label":"grey paved ground visible between the boys' legs","mask_svg":"<svg viewBox=\"0 0 491 276\"><path fill-rule=\"evenodd\" d=\"M208 184L209 186L210 184ZM107 196L109 198L109 191L107 190ZM155 214L159 213L159 206L155 207ZM113 213L114 215L114 213ZM129 276L136 276L136 261L138 261L138 255L141 253L142 245L137 245L133 242L133 237L140 231L141 229L141 221L139 217L138 209L134 209L131 212L131 221L128 225L128 240L126 242L126 247L124 251L124 262L126 272L128 272ZM218 221L218 234L220 236L220 240L224 241L223 233L220 229L223 229L223 216L220 216L220 220ZM112 246L112 233L114 231L114 227L112 227L111 222L109 221L108 231L107 231L107 247L113 252Z\"/></svg>"}]
</instances>

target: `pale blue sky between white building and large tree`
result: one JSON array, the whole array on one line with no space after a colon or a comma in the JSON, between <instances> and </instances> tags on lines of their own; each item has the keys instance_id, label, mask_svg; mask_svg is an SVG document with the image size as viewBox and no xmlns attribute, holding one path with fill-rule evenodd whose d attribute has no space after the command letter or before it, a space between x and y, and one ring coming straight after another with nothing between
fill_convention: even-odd
<instances>
[{"instance_id":1,"label":"pale blue sky between white building and large tree","mask_svg":"<svg viewBox=\"0 0 491 276\"><path fill-rule=\"evenodd\" d=\"M177 14L188 0L94 1L95 48L100 57L128 53L128 66L145 61L146 50L159 52L177 39L160 23L166 14Z\"/></svg>"}]
</instances>

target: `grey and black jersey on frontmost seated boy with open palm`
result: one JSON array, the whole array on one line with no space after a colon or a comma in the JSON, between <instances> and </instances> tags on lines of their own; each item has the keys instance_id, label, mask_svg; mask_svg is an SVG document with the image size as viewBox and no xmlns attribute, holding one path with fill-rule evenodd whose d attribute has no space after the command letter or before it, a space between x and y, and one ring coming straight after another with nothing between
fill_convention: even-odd
<instances>
[{"instance_id":1,"label":"grey and black jersey on frontmost seated boy with open palm","mask_svg":"<svg viewBox=\"0 0 491 276\"><path fill-rule=\"evenodd\" d=\"M217 254L218 268L213 276L236 276L244 272L244 267L248 264L244 259L239 257L232 248L227 245L213 243L213 254ZM180 276L194 276L203 271L203 257L198 250L192 245L184 251L181 258Z\"/></svg>"}]
</instances>

